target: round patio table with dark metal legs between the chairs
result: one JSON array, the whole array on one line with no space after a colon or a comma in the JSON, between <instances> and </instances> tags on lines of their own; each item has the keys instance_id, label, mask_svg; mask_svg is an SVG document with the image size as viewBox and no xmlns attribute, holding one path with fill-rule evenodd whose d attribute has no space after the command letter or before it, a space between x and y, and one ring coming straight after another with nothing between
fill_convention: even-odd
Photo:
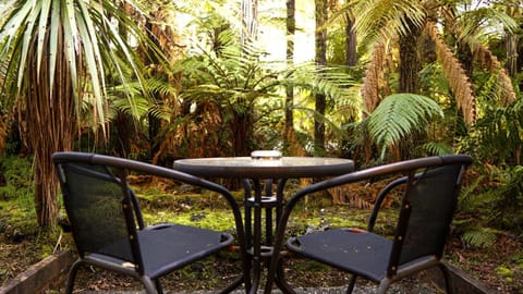
<instances>
[{"instance_id":1,"label":"round patio table with dark metal legs between the chairs","mask_svg":"<svg viewBox=\"0 0 523 294\"><path fill-rule=\"evenodd\" d=\"M272 225L272 209L276 210L275 223L278 224L284 206L283 188L287 181L289 179L325 177L349 173L354 170L354 161L325 157L281 157L269 159L216 157L175 160L173 168L202 177L244 180L244 225L246 236L244 248L251 256L253 278L250 278L251 269L244 269L243 277L231 284L224 292L230 292L241 283L245 283L245 289L248 290L248 293L256 293L260 280L262 261L272 255L272 235L273 230L277 229ZM263 195L262 180L267 180L265 195ZM278 181L276 196L272 195L273 180ZM253 191L254 196L251 195ZM265 242L262 240L263 210L266 212ZM252 211L254 212L254 222L252 220ZM291 287L284 282L282 270L277 272L276 282L284 293L292 293Z\"/></svg>"}]
</instances>

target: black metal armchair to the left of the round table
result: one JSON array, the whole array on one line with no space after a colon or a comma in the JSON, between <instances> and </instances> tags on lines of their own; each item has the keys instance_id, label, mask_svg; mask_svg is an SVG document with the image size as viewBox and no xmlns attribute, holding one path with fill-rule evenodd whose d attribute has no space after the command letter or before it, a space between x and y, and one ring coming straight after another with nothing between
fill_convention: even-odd
<instances>
[{"instance_id":1,"label":"black metal armchair to the left of the round table","mask_svg":"<svg viewBox=\"0 0 523 294\"><path fill-rule=\"evenodd\" d=\"M138 200L127 185L130 172L222 195L234 215L240 254L246 262L242 216L224 187L171 169L102 155L56 152L52 160L80 256L69 272L66 293L72 293L82 265L131 275L142 282L147 293L162 293L160 277L233 243L233 236L226 232L180 224L145 226Z\"/></svg>"}]
</instances>

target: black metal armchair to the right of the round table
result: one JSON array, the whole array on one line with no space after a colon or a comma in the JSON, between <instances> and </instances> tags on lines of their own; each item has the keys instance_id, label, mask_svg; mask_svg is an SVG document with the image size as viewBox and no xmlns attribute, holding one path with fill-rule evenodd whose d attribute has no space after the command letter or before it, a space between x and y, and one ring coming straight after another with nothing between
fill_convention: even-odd
<instances>
[{"instance_id":1,"label":"black metal armchair to the right of the round table","mask_svg":"<svg viewBox=\"0 0 523 294\"><path fill-rule=\"evenodd\" d=\"M382 180L391 182L378 194L366 231L330 229L315 232L289 238L287 248L351 273L346 293L352 293L357 277L378 283L377 292L386 293L392 282L433 267L441 269L446 290L450 293L449 271L441 258L462 175L471 163L472 158L466 155L405 160L352 172L299 191L288 201L278 225L266 293L270 293L275 274L281 271L279 253L283 249L285 226L301 198L335 186ZM373 229L385 198L393 191L401 191L403 196L394 236L387 238L373 233Z\"/></svg>"}]
</instances>

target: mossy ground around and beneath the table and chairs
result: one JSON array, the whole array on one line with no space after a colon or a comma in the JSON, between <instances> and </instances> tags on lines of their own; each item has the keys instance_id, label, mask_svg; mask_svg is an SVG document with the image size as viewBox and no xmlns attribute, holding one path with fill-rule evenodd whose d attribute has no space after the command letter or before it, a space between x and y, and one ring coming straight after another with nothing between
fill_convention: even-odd
<instances>
[{"instance_id":1,"label":"mossy ground around and beneath the table and chairs","mask_svg":"<svg viewBox=\"0 0 523 294\"><path fill-rule=\"evenodd\" d=\"M132 184L139 198L146 223L178 222L202 228L234 231L232 215L215 193L194 191L186 186L135 177ZM291 183L289 194L299 188ZM234 192L239 203L243 192ZM287 195L287 197L290 195ZM394 224L394 203L378 220L377 231L388 233ZM289 234L327 226L365 228L370 209L335 205L332 197L318 195L301 203L289 224ZM64 215L63 212L61 213ZM447 259L477 280L501 293L523 293L523 247L516 237L502 235L486 248L471 247L459 236L449 240ZM72 248L71 237L60 228L41 231L36 225L32 196L0 199L0 279L5 283L28 266L57 250ZM219 253L202 262L188 266L166 277L166 289L222 289L239 277L240 260L234 252ZM326 266L306 260L285 264L290 283L297 286L342 286L348 277ZM129 279L96 269L85 269L78 275L81 290L129 290L139 284ZM50 289L57 293L61 289Z\"/></svg>"}]
</instances>

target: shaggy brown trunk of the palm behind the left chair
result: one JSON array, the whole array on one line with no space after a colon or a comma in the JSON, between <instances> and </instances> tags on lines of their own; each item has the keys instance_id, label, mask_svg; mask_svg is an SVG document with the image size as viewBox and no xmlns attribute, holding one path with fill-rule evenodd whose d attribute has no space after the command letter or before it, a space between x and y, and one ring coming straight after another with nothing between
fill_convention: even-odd
<instances>
[{"instance_id":1,"label":"shaggy brown trunk of the palm behind the left chair","mask_svg":"<svg viewBox=\"0 0 523 294\"><path fill-rule=\"evenodd\" d=\"M48 40L49 36L46 36ZM37 40L34 37L34 41ZM63 44L62 44L63 46ZM32 47L35 48L36 46ZM37 222L49 228L58 219L59 182L51 155L56 151L69 151L73 148L76 121L74 94L72 90L69 63L63 52L57 58L57 71L52 91L49 85L49 72L37 68L36 52L29 54L33 60L26 68L25 83L28 83L25 96L25 121L28 142L35 154L35 208ZM41 69L49 69L49 59L42 59Z\"/></svg>"}]
</instances>

